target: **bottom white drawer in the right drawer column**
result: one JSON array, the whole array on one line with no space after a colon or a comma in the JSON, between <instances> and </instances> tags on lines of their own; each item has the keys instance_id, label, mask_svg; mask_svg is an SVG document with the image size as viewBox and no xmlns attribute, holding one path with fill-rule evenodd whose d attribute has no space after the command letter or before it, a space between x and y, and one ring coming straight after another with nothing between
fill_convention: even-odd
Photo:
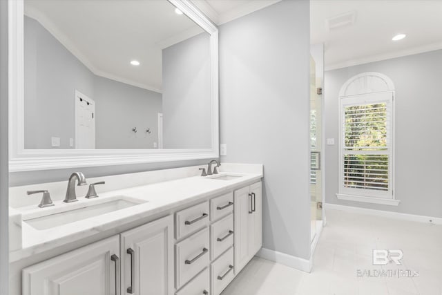
<instances>
[{"instance_id":1,"label":"bottom white drawer in the right drawer column","mask_svg":"<svg viewBox=\"0 0 442 295\"><path fill-rule=\"evenodd\" d=\"M210 266L212 295L219 295L233 280L233 247Z\"/></svg>"}]
</instances>

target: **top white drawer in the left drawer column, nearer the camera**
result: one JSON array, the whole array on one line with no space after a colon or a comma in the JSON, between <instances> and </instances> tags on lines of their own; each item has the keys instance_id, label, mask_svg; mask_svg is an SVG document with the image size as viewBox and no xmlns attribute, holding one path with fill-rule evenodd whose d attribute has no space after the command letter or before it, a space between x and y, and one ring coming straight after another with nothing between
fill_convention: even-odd
<instances>
[{"instance_id":1,"label":"top white drawer in the left drawer column, nearer the camera","mask_svg":"<svg viewBox=\"0 0 442 295\"><path fill-rule=\"evenodd\" d=\"M209 225L209 202L175 213L175 238L180 239Z\"/></svg>"}]
</instances>

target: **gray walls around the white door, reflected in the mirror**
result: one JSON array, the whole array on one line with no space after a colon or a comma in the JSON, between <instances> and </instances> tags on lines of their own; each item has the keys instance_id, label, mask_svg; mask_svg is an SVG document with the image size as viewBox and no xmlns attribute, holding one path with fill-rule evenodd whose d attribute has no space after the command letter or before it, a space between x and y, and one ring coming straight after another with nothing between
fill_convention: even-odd
<instances>
[{"instance_id":1,"label":"gray walls around the white door, reflected in the mirror","mask_svg":"<svg viewBox=\"0 0 442 295\"><path fill-rule=\"evenodd\" d=\"M96 76L38 21L25 17L24 26L26 149L52 149L52 136L73 149L75 89L95 100L97 149L153 149L160 93Z\"/></svg>"}]
</instances>

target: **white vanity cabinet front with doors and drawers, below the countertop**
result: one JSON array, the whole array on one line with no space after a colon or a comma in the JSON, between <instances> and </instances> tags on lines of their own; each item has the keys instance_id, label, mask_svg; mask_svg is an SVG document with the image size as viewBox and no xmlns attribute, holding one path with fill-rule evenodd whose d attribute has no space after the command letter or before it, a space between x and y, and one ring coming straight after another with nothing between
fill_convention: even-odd
<instances>
[{"instance_id":1,"label":"white vanity cabinet front with doors and drawers, below the countertop","mask_svg":"<svg viewBox=\"0 0 442 295\"><path fill-rule=\"evenodd\" d=\"M23 295L219 295L262 246L262 184L23 269Z\"/></svg>"}]
</instances>

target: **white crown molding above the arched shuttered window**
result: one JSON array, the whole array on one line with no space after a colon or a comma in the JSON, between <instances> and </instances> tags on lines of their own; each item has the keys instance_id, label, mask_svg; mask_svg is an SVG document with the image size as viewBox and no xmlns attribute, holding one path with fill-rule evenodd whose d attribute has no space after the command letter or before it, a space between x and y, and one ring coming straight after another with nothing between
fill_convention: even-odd
<instances>
[{"instance_id":1,"label":"white crown molding above the arched shuttered window","mask_svg":"<svg viewBox=\"0 0 442 295\"><path fill-rule=\"evenodd\" d=\"M371 55L368 57L363 57L360 59L350 59L349 61L325 65L325 70L336 70L338 68L347 68L349 66L358 66L359 64L369 64L374 61L382 61L386 59L394 59L396 57L405 57L407 55L416 55L419 53L426 53L428 51L442 49L442 42L437 42L433 44L427 44L423 46L416 46L413 48L407 48L403 50L398 50L390 53L382 53L380 55ZM326 59L327 60L327 57Z\"/></svg>"}]
</instances>

